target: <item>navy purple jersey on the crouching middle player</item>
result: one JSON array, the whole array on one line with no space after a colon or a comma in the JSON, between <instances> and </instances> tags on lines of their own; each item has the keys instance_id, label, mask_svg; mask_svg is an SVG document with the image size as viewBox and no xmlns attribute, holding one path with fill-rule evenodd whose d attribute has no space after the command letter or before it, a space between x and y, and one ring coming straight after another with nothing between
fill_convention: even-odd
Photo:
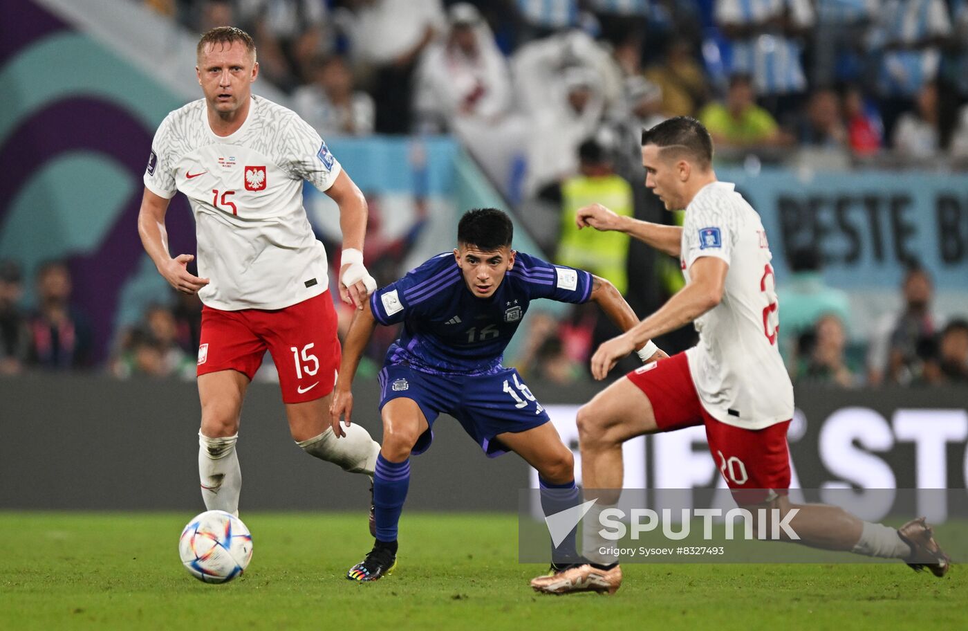
<instances>
[{"instance_id":1,"label":"navy purple jersey on the crouching middle player","mask_svg":"<svg viewBox=\"0 0 968 631\"><path fill-rule=\"evenodd\" d=\"M531 300L586 302L591 274L518 252L514 267L490 298L471 294L453 252L439 254L374 292L370 307L381 325L404 323L386 364L406 363L433 374L490 374Z\"/></svg>"}]
</instances>

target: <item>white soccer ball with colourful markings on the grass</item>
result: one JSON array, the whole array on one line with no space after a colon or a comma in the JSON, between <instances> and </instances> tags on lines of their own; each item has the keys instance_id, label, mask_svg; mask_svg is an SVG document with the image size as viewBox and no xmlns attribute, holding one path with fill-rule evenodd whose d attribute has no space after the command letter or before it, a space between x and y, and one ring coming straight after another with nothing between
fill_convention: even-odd
<instances>
[{"instance_id":1,"label":"white soccer ball with colourful markings on the grass","mask_svg":"<svg viewBox=\"0 0 968 631\"><path fill-rule=\"evenodd\" d=\"M252 535L231 513L205 511L182 530L178 553L185 568L199 581L228 583L252 560Z\"/></svg>"}]
</instances>

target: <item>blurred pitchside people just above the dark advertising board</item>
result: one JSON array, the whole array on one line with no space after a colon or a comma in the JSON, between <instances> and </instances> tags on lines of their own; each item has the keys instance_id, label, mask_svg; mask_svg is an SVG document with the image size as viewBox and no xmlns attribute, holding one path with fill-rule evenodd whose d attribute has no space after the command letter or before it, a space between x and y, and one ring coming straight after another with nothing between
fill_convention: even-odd
<instances>
[{"instance_id":1,"label":"blurred pitchside people just above the dark advertising board","mask_svg":"<svg viewBox=\"0 0 968 631\"><path fill-rule=\"evenodd\" d=\"M869 339L852 346L845 328L847 296L824 285L818 260L810 251L795 254L791 278L779 291L779 344L795 383L840 388L968 386L968 319L945 321L935 312L931 278L923 268L913 266L905 274L900 310L884 314ZM602 261L586 267L604 274L609 265ZM66 263L50 261L38 268L33 309L23 306L23 283L15 262L0 261L0 375L106 370L120 379L195 378L201 326L196 296L172 292L167 302L148 305L135 325L117 331L106 362L95 363L88 319L73 304ZM350 315L351 309L341 309L341 335ZM376 374L395 331L380 328L380 333L368 349L361 374ZM563 319L538 309L529 318L523 347L511 361L529 378L562 385L587 381L596 344L614 333L591 304L579 305ZM664 350L677 352L695 342L695 331L687 327L656 341ZM631 367L634 363L620 369ZM278 379L268 356L257 379Z\"/></svg>"}]
</instances>

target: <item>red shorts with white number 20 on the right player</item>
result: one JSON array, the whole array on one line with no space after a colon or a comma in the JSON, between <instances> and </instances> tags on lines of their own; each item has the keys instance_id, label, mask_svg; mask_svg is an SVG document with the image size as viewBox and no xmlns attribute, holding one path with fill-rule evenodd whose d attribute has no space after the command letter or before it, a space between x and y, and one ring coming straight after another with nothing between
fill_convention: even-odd
<instances>
[{"instance_id":1,"label":"red shorts with white number 20 on the right player","mask_svg":"<svg viewBox=\"0 0 968 631\"><path fill-rule=\"evenodd\" d=\"M758 504L790 489L786 441L790 421L763 429L717 421L699 400L685 353L646 364L626 376L649 397L659 431L706 426L712 459L738 504Z\"/></svg>"}]
</instances>

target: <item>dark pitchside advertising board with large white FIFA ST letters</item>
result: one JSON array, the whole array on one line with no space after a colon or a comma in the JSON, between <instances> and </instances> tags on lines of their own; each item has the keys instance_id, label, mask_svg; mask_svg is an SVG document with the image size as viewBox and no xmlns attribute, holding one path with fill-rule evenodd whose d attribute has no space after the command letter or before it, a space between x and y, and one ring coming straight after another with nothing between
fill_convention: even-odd
<instances>
[{"instance_id":1,"label":"dark pitchside advertising board with large white FIFA ST letters","mask_svg":"<svg viewBox=\"0 0 968 631\"><path fill-rule=\"evenodd\" d=\"M585 384L568 388L534 383L565 440L577 453L574 410L598 392ZM50 393L57 396L50 396ZM376 380L354 384L354 420L379 435ZM0 487L4 508L195 508L197 505L197 391L194 383L127 381L107 377L34 375L0 379L7 401L0 424ZM798 389L799 413L789 432L794 483L802 489L847 489L854 501L877 502L866 489L961 489L968 505L968 414L964 389L835 391ZM246 506L252 510L352 509L356 491L327 484L318 463L298 452L280 420L278 387L253 384L243 410L240 442L259 445L264 457L246 461ZM131 419L150 428L151 457ZM56 426L46 435L39 424ZM460 426L443 418L434 448L414 458L411 497L418 510L514 511L518 489L536 487L520 458L483 457ZM102 457L112 445L112 458ZM625 486L638 489L713 489L718 463L701 429L630 441L625 446ZM37 457L56 453L55 458ZM576 458L580 474L580 458ZM136 470L146 486L134 487L119 470ZM455 472L457 472L455 474ZM291 488L293 475L305 489ZM76 480L70 492L54 484ZM425 479L426 483L419 483ZM532 484L529 484L532 483ZM355 481L348 481L348 485ZM312 501L308 501L311 497ZM865 500L865 497L870 499ZM409 504L408 504L409 505ZM948 507L949 509L951 507ZM942 507L925 507L931 518ZM951 512L949 510L949 512Z\"/></svg>"}]
</instances>

